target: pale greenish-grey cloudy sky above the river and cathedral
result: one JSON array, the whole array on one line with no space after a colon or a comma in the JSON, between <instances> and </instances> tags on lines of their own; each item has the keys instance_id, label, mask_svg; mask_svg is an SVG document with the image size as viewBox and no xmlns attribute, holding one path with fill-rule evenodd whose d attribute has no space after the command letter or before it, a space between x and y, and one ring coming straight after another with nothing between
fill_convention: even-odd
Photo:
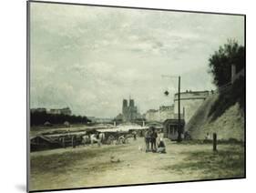
<instances>
[{"instance_id":1,"label":"pale greenish-grey cloudy sky above the river and cathedral","mask_svg":"<svg viewBox=\"0 0 256 193\"><path fill-rule=\"evenodd\" d=\"M31 3L31 107L114 117L131 96L141 113L181 91L215 87L208 59L244 45L243 17ZM169 90L170 96L163 92Z\"/></svg>"}]
</instances>

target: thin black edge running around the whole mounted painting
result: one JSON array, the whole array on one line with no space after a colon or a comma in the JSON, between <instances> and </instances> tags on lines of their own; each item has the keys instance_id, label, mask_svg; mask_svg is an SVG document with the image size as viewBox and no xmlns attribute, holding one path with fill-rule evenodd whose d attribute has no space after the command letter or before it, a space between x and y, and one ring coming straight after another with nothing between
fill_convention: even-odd
<instances>
[{"instance_id":1,"label":"thin black edge running around the whole mounted painting","mask_svg":"<svg viewBox=\"0 0 256 193\"><path fill-rule=\"evenodd\" d=\"M124 8L124 9L139 9L139 10L151 10L151 11L171 11L171 12L183 12L183 13L195 13L195 14L210 14L210 15L237 15L243 16L244 19L244 176L241 178L212 178L212 179L198 179L198 180L184 180L184 181L170 181L170 182L155 182L155 183L142 183L142 184L125 184L115 186L101 186L101 187L84 187L84 188L58 188L58 189L39 189L29 190L29 178L30 178L30 3L39 4L58 4L58 5L86 5L86 6L98 6L98 7L110 7L110 8ZM203 182L203 181L218 181L218 180L231 180L231 179L244 179L246 178L246 15L245 14L230 14L230 13L217 13L217 12L203 12L203 11L191 11L191 10L177 10L177 9L161 9L161 8L148 8L148 7L133 7L133 6L120 6L120 5L93 5L93 4L78 4L78 3L66 3L66 2L51 2L51 1L26 1L26 192L47 192L47 191L62 191L62 190L78 190L78 189L90 189L90 188L119 188L119 187L135 187L145 185L163 185L163 184L178 184L188 182Z\"/></svg>"}]
</instances>

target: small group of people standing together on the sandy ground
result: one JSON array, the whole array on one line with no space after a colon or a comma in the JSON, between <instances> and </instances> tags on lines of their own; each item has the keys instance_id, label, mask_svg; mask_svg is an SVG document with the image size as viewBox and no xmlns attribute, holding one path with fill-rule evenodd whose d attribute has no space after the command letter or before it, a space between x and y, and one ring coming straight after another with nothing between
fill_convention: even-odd
<instances>
[{"instance_id":1,"label":"small group of people standing together on the sandy ground","mask_svg":"<svg viewBox=\"0 0 256 193\"><path fill-rule=\"evenodd\" d=\"M159 141L157 142L158 133L155 127L149 127L149 129L145 132L145 143L146 143L146 153L166 153L166 147L163 142L163 138L159 137Z\"/></svg>"}]
</instances>

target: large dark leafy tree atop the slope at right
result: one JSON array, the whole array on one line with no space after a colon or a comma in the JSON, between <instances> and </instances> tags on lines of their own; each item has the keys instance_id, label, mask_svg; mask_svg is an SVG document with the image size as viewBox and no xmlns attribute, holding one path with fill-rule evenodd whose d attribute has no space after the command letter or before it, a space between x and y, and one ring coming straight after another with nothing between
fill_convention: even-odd
<instances>
[{"instance_id":1,"label":"large dark leafy tree atop the slope at right","mask_svg":"<svg viewBox=\"0 0 256 193\"><path fill-rule=\"evenodd\" d=\"M244 46L240 46L235 40L228 40L224 46L220 46L214 55L210 56L210 73L213 75L213 83L222 86L231 80L231 65L236 66L239 72L245 66Z\"/></svg>"}]
</instances>

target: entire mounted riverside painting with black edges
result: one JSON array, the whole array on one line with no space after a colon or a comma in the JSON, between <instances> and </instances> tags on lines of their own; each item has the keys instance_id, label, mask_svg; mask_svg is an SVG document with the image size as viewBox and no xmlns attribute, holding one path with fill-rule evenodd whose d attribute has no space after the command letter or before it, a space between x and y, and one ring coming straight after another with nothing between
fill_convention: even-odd
<instances>
[{"instance_id":1,"label":"entire mounted riverside painting with black edges","mask_svg":"<svg viewBox=\"0 0 256 193\"><path fill-rule=\"evenodd\" d=\"M27 13L29 191L245 178L245 15Z\"/></svg>"}]
</instances>

